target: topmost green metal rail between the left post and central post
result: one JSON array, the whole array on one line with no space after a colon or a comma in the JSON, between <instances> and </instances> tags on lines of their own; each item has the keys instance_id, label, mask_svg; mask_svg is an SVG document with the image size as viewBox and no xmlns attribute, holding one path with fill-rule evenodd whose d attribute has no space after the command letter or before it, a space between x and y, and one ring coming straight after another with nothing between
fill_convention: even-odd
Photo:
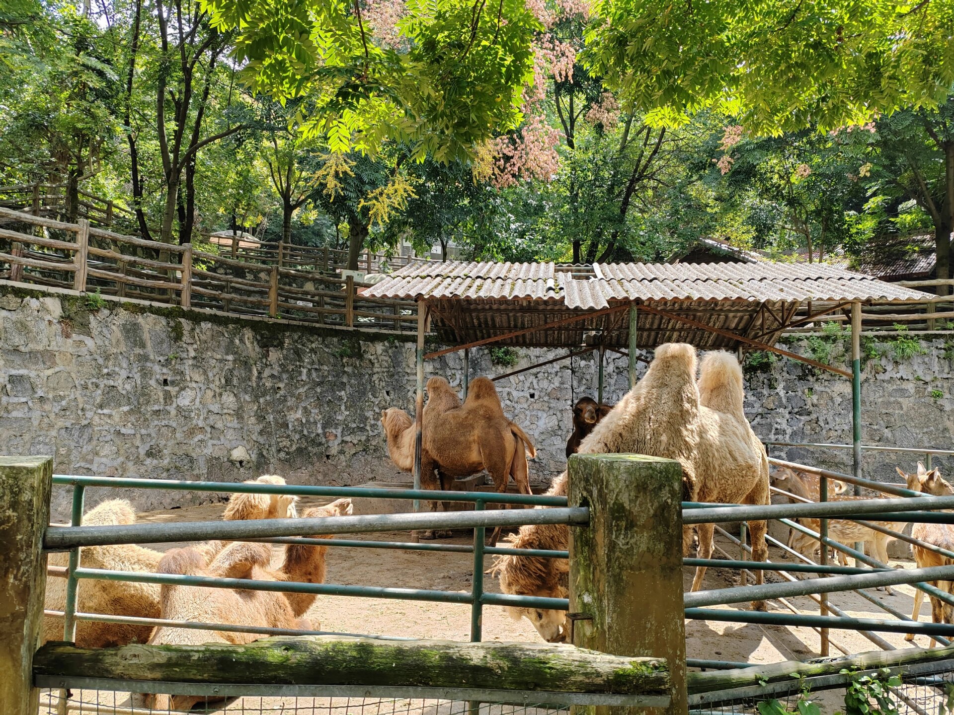
<instances>
[{"instance_id":1,"label":"topmost green metal rail between the left post and central post","mask_svg":"<svg viewBox=\"0 0 954 715\"><path fill-rule=\"evenodd\" d=\"M486 501L487 503L524 504L527 506L566 506L566 497L504 494L498 492L455 492L430 489L387 489L362 486L311 486L307 484L259 484L227 481L140 480L116 477L82 477L54 475L53 484L131 489L172 489L185 492L217 492L219 494L287 494L299 497L340 499L400 499L422 501Z\"/></svg>"}]
</instances>

